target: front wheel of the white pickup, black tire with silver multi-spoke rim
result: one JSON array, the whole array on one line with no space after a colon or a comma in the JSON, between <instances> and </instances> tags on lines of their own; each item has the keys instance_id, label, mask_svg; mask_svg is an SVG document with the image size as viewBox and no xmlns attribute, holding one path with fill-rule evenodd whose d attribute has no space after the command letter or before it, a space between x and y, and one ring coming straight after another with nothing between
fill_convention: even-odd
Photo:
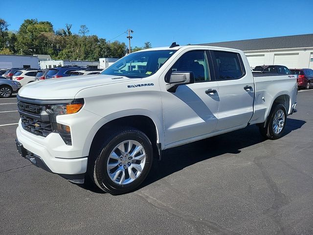
<instances>
[{"instance_id":1,"label":"front wheel of the white pickup, black tire with silver multi-spoke rim","mask_svg":"<svg viewBox=\"0 0 313 235\"><path fill-rule=\"evenodd\" d=\"M89 175L96 186L113 195L123 194L137 188L147 177L153 147L143 132L127 127L105 138L89 161Z\"/></svg>"}]
</instances>

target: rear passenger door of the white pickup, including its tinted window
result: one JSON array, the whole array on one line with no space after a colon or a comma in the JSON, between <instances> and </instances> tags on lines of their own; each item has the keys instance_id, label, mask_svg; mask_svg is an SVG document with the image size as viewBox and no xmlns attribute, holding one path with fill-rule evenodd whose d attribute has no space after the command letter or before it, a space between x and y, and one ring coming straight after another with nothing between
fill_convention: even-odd
<instances>
[{"instance_id":1,"label":"rear passenger door of the white pickup, including its tinted window","mask_svg":"<svg viewBox=\"0 0 313 235\"><path fill-rule=\"evenodd\" d=\"M246 126L253 115L252 73L246 72L240 53L210 50L210 54L220 98L217 129Z\"/></svg>"}]
</instances>

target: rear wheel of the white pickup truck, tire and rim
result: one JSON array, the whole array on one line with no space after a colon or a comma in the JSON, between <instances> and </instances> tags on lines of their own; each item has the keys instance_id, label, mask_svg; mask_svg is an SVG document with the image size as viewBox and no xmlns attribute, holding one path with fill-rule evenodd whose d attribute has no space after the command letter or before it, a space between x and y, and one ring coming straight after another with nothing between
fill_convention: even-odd
<instances>
[{"instance_id":1,"label":"rear wheel of the white pickup truck, tire and rim","mask_svg":"<svg viewBox=\"0 0 313 235\"><path fill-rule=\"evenodd\" d=\"M283 104L274 103L269 113L267 124L259 125L262 136L269 140L277 140L284 134L286 127L287 113Z\"/></svg>"}]
</instances>

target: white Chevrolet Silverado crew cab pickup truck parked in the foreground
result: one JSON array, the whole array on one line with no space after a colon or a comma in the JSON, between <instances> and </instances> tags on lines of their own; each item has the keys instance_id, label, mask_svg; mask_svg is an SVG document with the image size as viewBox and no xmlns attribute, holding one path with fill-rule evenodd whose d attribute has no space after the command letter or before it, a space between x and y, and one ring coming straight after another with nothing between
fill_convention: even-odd
<instances>
[{"instance_id":1,"label":"white Chevrolet Silverado crew cab pickup truck parked in the foreground","mask_svg":"<svg viewBox=\"0 0 313 235\"><path fill-rule=\"evenodd\" d=\"M253 75L243 51L173 43L101 74L27 84L16 143L39 167L120 194L142 183L164 149L251 124L280 138L296 96L296 75Z\"/></svg>"}]
</instances>

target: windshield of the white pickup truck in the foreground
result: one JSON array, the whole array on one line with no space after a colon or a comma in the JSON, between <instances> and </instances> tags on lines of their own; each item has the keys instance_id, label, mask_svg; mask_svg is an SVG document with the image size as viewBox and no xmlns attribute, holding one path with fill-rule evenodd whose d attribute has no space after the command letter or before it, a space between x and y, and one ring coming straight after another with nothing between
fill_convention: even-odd
<instances>
[{"instance_id":1,"label":"windshield of the white pickup truck in the foreground","mask_svg":"<svg viewBox=\"0 0 313 235\"><path fill-rule=\"evenodd\" d=\"M154 74L176 50L149 50L131 53L101 74L143 78Z\"/></svg>"}]
</instances>

